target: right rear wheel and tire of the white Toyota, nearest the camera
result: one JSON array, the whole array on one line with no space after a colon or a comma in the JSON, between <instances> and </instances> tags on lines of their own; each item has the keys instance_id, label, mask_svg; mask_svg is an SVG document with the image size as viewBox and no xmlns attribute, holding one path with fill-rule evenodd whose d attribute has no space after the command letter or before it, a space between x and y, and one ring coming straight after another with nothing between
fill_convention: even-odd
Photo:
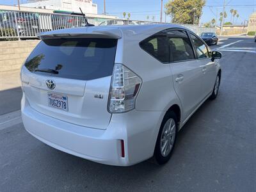
<instances>
[{"instance_id":1,"label":"right rear wheel and tire of the white Toyota, nearest the camera","mask_svg":"<svg viewBox=\"0 0 256 192\"><path fill-rule=\"evenodd\" d=\"M167 140L166 136L168 137ZM177 116L173 111L170 111L164 116L157 136L154 151L154 160L157 164L164 164L169 161L170 157L172 156L173 148L175 147L176 138Z\"/></svg>"}]
</instances>

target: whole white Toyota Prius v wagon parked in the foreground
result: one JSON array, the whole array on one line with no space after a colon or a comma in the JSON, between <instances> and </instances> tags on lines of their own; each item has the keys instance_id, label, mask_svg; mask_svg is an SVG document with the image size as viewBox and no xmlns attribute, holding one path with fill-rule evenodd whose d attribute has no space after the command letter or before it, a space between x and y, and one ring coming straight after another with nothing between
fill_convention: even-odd
<instances>
[{"instance_id":1,"label":"whole white Toyota Prius v wagon parked in the foreground","mask_svg":"<svg viewBox=\"0 0 256 192\"><path fill-rule=\"evenodd\" d=\"M164 164L177 132L218 95L221 52L182 26L88 26L38 36L21 68L23 124L74 156Z\"/></svg>"}]
</instances>

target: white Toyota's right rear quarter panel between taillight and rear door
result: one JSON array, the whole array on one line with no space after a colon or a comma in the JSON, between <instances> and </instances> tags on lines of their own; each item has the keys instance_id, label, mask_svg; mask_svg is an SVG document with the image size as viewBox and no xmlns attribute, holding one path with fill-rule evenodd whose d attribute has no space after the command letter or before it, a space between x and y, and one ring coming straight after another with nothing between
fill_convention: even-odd
<instances>
[{"instance_id":1,"label":"white Toyota's right rear quarter panel between taillight and rear door","mask_svg":"<svg viewBox=\"0 0 256 192\"><path fill-rule=\"evenodd\" d=\"M123 63L143 81L136 99L136 110L167 111L173 104L180 106L173 88L170 65L161 63L141 49L139 44L145 38L147 32L136 35L131 31L118 40L116 51L115 63Z\"/></svg>"}]
</instances>

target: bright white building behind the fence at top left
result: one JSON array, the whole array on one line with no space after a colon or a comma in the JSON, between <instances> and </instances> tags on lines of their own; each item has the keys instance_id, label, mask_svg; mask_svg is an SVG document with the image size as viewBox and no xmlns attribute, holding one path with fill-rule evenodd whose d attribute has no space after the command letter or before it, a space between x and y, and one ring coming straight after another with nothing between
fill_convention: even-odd
<instances>
[{"instance_id":1,"label":"bright white building behind the fence at top left","mask_svg":"<svg viewBox=\"0 0 256 192\"><path fill-rule=\"evenodd\" d=\"M97 4L92 0L28 0L28 3L20 6L67 12L80 12L80 7L84 13L98 13Z\"/></svg>"}]
</instances>

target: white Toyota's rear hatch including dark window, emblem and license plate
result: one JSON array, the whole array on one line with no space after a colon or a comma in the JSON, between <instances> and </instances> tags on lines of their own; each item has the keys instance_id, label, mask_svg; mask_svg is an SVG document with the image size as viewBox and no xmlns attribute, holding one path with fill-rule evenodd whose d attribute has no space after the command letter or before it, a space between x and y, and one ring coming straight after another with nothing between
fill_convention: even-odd
<instances>
[{"instance_id":1,"label":"white Toyota's rear hatch including dark window, emblem and license plate","mask_svg":"<svg viewBox=\"0 0 256 192\"><path fill-rule=\"evenodd\" d=\"M72 124L106 129L116 44L110 38L42 40L22 67L31 108Z\"/></svg>"}]
</instances>

